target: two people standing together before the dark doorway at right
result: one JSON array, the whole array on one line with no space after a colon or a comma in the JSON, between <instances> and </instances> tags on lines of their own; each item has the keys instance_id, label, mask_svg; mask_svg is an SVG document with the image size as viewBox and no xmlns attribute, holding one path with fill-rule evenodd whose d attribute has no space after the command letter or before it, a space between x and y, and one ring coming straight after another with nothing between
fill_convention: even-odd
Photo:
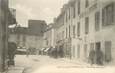
<instances>
[{"instance_id":1,"label":"two people standing together before the dark doorway at right","mask_svg":"<svg viewBox=\"0 0 115 73\"><path fill-rule=\"evenodd\" d=\"M104 61L104 55L103 52L100 49L92 49L89 53L89 62L91 65L93 64L98 64L98 65L103 65Z\"/></svg>"}]
</instances>

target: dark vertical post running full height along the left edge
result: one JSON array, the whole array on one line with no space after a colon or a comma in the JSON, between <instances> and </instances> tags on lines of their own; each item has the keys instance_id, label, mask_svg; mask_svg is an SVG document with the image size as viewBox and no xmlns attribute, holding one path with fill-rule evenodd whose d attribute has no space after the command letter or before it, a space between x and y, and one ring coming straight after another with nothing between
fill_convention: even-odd
<instances>
[{"instance_id":1,"label":"dark vertical post running full height along the left edge","mask_svg":"<svg viewBox=\"0 0 115 73\"><path fill-rule=\"evenodd\" d=\"M7 69L8 0L0 0L0 72Z\"/></svg>"}]
</instances>

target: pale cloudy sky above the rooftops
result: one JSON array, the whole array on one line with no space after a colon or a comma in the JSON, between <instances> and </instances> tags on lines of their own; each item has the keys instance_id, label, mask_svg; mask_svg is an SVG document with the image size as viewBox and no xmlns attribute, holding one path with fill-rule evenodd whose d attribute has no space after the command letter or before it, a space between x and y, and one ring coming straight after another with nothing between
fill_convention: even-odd
<instances>
[{"instance_id":1,"label":"pale cloudy sky above the rooftops","mask_svg":"<svg viewBox=\"0 0 115 73\"><path fill-rule=\"evenodd\" d=\"M9 0L9 6L16 9L18 24L26 27L29 19L52 23L67 2L68 0Z\"/></svg>"}]
</instances>

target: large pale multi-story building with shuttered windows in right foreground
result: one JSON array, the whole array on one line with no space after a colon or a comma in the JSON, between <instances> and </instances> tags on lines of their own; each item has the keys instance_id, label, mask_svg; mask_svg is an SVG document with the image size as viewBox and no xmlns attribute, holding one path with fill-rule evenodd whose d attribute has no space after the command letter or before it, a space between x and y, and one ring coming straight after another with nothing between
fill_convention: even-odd
<instances>
[{"instance_id":1,"label":"large pale multi-story building with shuttered windows in right foreground","mask_svg":"<svg viewBox=\"0 0 115 73\"><path fill-rule=\"evenodd\" d=\"M101 49L106 62L115 61L114 0L71 0L63 11L65 49L69 47L71 58L86 60L91 49Z\"/></svg>"}]
</instances>

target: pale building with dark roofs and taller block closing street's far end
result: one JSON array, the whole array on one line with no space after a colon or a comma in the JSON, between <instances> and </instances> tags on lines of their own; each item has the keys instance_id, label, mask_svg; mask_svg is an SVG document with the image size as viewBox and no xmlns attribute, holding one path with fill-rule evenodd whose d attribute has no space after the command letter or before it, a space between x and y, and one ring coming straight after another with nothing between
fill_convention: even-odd
<instances>
[{"instance_id":1,"label":"pale building with dark roofs and taller block closing street's far end","mask_svg":"<svg viewBox=\"0 0 115 73\"><path fill-rule=\"evenodd\" d=\"M19 48L41 49L46 23L41 20L29 20L28 27L11 28L9 41L15 42Z\"/></svg>"}]
</instances>

